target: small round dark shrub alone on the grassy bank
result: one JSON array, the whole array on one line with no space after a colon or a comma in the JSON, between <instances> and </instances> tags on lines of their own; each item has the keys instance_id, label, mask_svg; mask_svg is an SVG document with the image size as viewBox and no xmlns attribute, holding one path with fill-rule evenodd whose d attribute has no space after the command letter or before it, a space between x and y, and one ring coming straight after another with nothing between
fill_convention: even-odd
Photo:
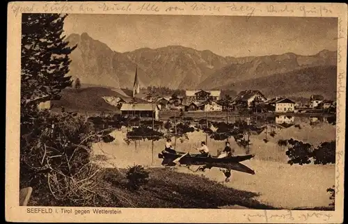
<instances>
[{"instance_id":1,"label":"small round dark shrub alone on the grassy bank","mask_svg":"<svg viewBox=\"0 0 348 224\"><path fill-rule=\"evenodd\" d=\"M149 172L143 166L135 165L128 168L126 177L129 189L138 190L141 186L148 183Z\"/></svg>"}]
</instances>

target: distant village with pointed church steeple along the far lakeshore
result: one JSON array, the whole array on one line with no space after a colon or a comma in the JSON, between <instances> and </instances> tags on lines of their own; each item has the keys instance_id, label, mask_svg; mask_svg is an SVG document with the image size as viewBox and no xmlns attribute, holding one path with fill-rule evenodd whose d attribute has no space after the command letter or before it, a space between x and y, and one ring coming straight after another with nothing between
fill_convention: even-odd
<instances>
[{"instance_id":1,"label":"distant village with pointed church steeple along the far lakeshore","mask_svg":"<svg viewBox=\"0 0 348 224\"><path fill-rule=\"evenodd\" d=\"M169 90L168 88L165 88ZM322 95L311 95L307 103L298 103L287 97L268 99L260 90L243 90L235 97L222 95L221 90L184 90L164 91L171 94L156 93L154 87L148 87L141 93L137 72L134 77L132 94L122 89L113 89L119 97L104 96L105 102L115 106L125 117L152 118L159 120L159 113L183 112L231 112L238 114L277 113L335 113L336 102L324 99ZM161 92L161 91L158 91ZM178 94L179 93L179 94ZM123 97L122 97L123 96ZM50 102L43 102L39 109L50 108Z\"/></svg>"}]
</instances>

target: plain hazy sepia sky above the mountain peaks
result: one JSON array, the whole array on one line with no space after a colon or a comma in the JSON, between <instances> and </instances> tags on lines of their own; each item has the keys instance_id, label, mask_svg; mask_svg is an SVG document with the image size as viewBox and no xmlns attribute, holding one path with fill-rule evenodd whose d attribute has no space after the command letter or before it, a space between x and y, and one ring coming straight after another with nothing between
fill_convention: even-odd
<instances>
[{"instance_id":1,"label":"plain hazy sepia sky above the mountain peaks","mask_svg":"<svg viewBox=\"0 0 348 224\"><path fill-rule=\"evenodd\" d=\"M338 33L336 18L211 15L70 14L64 30L88 33L118 52L182 45L235 57L336 50Z\"/></svg>"}]
</instances>

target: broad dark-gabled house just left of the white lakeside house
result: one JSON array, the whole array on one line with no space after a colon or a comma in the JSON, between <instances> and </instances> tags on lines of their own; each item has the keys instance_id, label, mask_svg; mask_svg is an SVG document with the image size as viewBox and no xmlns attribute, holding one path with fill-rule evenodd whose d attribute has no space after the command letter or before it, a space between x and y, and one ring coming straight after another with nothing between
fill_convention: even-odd
<instances>
[{"instance_id":1,"label":"broad dark-gabled house just left of the white lakeside house","mask_svg":"<svg viewBox=\"0 0 348 224\"><path fill-rule=\"evenodd\" d=\"M267 98L259 90L244 90L235 97L233 104L246 105L250 108L253 103L258 104L266 101Z\"/></svg>"}]
</instances>

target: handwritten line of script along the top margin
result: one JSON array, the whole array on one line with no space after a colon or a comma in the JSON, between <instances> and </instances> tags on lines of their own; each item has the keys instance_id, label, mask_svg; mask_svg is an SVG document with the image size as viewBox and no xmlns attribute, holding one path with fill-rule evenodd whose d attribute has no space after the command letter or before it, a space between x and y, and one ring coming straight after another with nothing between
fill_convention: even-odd
<instances>
[{"instance_id":1,"label":"handwritten line of script along the top margin","mask_svg":"<svg viewBox=\"0 0 348 224\"><path fill-rule=\"evenodd\" d=\"M49 2L49 3L32 3L25 6L21 3L13 3L11 10L17 16L19 13L95 13L101 12L148 12L148 13L169 13L181 11L193 11L202 13L240 13L246 16L246 20L255 16L256 13L270 13L271 15L281 15L288 13L301 13L306 16L331 16L333 14L329 6L306 6L306 5L287 5L287 4L270 4L266 8L256 4L240 3L183 3L173 5L162 5L154 2L120 2L120 3L79 3L79 2Z\"/></svg>"}]
</instances>

